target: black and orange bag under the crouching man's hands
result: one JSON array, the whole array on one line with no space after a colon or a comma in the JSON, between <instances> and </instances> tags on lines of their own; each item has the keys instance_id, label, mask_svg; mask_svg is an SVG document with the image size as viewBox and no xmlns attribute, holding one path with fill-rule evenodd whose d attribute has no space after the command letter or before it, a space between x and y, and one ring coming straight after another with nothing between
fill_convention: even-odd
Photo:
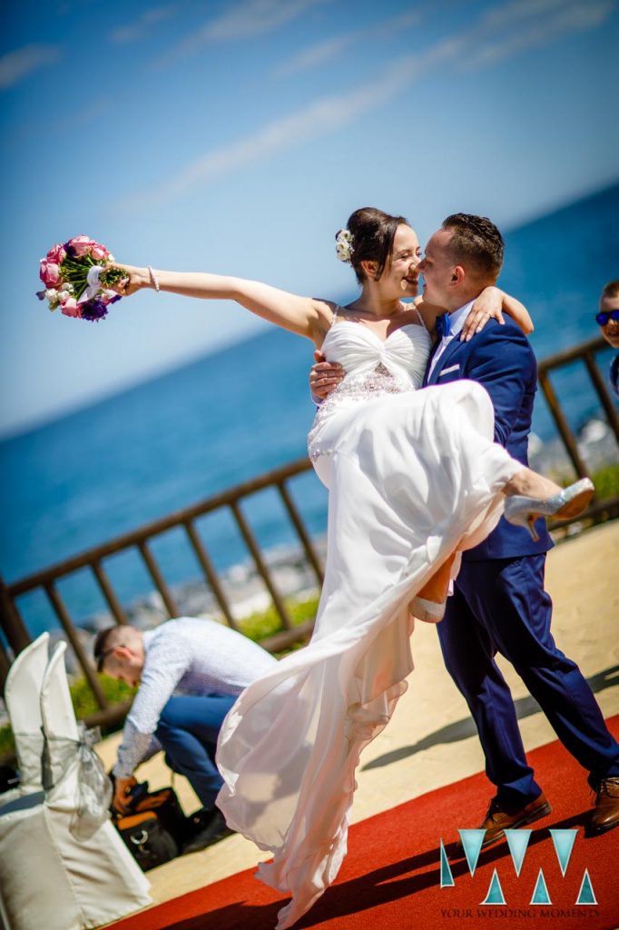
<instances>
[{"instance_id":1,"label":"black and orange bag under the crouching man's hands","mask_svg":"<svg viewBox=\"0 0 619 930\"><path fill-rule=\"evenodd\" d=\"M127 815L114 815L116 829L143 871L163 865L182 852L191 836L192 822L185 817L171 788L148 790L142 782L131 791Z\"/></svg>"}]
</instances>

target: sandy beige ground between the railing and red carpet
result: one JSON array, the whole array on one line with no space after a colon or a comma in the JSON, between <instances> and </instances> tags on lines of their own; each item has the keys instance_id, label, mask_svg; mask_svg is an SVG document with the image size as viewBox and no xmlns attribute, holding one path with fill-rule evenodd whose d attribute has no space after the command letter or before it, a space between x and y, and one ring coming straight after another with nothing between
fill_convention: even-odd
<instances>
[{"instance_id":1,"label":"sandy beige ground between the railing and red carpet","mask_svg":"<svg viewBox=\"0 0 619 930\"><path fill-rule=\"evenodd\" d=\"M553 633L560 648L592 679L605 717L619 713L619 521L561 543L547 560L547 590L554 601ZM614 555L614 557L613 557ZM370 817L428 790L483 769L483 756L464 699L441 660L434 627L418 623L413 636L415 671L389 726L366 749L358 770L352 822ZM555 737L518 675L501 662L517 699L520 729L530 750ZM99 747L106 764L114 760L119 737ZM138 771L151 789L170 783L162 755ZM585 773L583 774L585 777ZM186 811L199 806L189 784L176 777ZM488 798L492 796L488 784ZM483 811L480 811L480 816ZM470 826L477 826L471 824ZM264 857L254 844L230 836L216 846L151 870L155 902L178 897L204 884L250 868Z\"/></svg>"}]
</instances>

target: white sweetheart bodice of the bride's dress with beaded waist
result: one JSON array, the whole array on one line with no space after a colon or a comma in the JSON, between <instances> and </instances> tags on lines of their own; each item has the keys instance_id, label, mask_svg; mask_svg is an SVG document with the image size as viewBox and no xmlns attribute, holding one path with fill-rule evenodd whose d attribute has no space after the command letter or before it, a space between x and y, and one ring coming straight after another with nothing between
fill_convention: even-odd
<instances>
[{"instance_id":1,"label":"white sweetheart bodice of the bride's dress with beaded waist","mask_svg":"<svg viewBox=\"0 0 619 930\"><path fill-rule=\"evenodd\" d=\"M338 362L346 376L319 407L308 443L342 403L363 403L383 394L416 391L423 383L431 340L425 326L401 326L381 339L372 329L351 320L336 320L323 341L328 362Z\"/></svg>"}]
</instances>

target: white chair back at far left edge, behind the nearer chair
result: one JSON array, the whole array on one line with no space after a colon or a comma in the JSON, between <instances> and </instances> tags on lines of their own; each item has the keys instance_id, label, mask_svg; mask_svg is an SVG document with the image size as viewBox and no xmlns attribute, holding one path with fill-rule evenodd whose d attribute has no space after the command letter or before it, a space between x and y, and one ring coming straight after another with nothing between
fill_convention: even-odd
<instances>
[{"instance_id":1,"label":"white chair back at far left edge, behind the nearer chair","mask_svg":"<svg viewBox=\"0 0 619 930\"><path fill-rule=\"evenodd\" d=\"M8 670L5 703L15 737L15 754L20 770L20 785L0 795L0 807L24 794L43 790L41 784L41 685L47 665L49 633L26 646ZM43 800L41 796L39 800Z\"/></svg>"}]
</instances>

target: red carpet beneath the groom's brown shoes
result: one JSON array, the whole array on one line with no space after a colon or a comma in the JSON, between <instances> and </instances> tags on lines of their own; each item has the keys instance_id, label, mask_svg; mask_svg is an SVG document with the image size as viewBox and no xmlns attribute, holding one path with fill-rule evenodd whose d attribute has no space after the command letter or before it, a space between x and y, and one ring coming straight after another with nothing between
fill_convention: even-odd
<instances>
[{"instance_id":1,"label":"red carpet beneath the groom's brown shoes","mask_svg":"<svg viewBox=\"0 0 619 930\"><path fill-rule=\"evenodd\" d=\"M619 736L619 716L608 722ZM505 842L482 850L473 877L464 859L450 863L453 887L440 887L440 838L475 827L492 790L481 773L350 829L349 855L336 884L297 924L298 930L615 930L619 926L619 828L587 839L591 792L580 766L559 742L529 753L553 810L532 825L520 878ZM415 762L411 761L411 779ZM548 828L578 830L565 877ZM539 870L551 904L531 905ZM482 905L496 870L506 905ZM597 905L576 905L588 870ZM254 870L113 924L113 930L272 930L284 899Z\"/></svg>"}]
</instances>

